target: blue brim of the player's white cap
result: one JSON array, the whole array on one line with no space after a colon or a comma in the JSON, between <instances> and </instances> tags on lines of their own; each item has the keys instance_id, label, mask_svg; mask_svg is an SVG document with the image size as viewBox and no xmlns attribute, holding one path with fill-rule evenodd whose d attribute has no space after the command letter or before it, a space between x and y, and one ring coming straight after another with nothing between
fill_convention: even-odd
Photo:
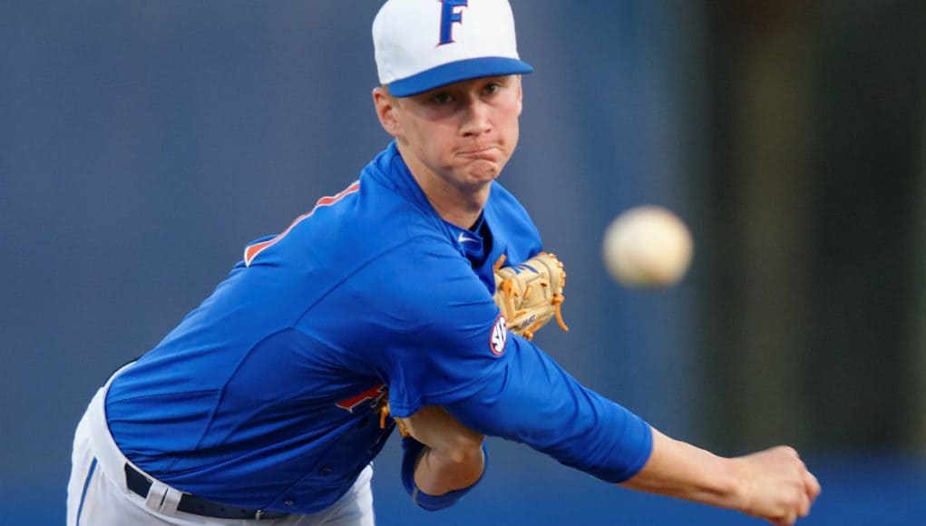
<instances>
[{"instance_id":1,"label":"blue brim of the player's white cap","mask_svg":"<svg viewBox=\"0 0 926 526\"><path fill-rule=\"evenodd\" d=\"M417 75L389 83L389 93L396 97L421 94L434 88L459 81L480 77L518 75L530 73L533 68L527 62L507 56L483 56L458 60L437 68L426 69Z\"/></svg>"}]
</instances>

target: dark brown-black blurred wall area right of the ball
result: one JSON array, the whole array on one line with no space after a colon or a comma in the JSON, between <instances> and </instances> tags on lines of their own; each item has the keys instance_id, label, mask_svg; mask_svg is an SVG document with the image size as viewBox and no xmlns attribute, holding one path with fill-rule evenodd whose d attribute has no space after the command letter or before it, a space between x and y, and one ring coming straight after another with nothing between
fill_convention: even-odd
<instances>
[{"instance_id":1,"label":"dark brown-black blurred wall area right of the ball","mask_svg":"<svg viewBox=\"0 0 926 526\"><path fill-rule=\"evenodd\" d=\"M729 445L921 447L924 21L912 1L712 5L704 298Z\"/></svg>"}]
</instances>

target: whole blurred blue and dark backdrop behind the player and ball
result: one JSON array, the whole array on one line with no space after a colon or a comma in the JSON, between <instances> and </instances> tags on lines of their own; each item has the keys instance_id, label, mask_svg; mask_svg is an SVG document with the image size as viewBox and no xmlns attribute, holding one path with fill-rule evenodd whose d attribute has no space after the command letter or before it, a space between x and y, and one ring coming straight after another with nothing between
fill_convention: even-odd
<instances>
[{"instance_id":1,"label":"whole blurred blue and dark backdrop behind the player and ball","mask_svg":"<svg viewBox=\"0 0 926 526\"><path fill-rule=\"evenodd\" d=\"M61 524L96 387L388 142L380 2L0 2L0 522ZM512 0L525 78L502 182L569 269L595 390L723 455L788 443L807 524L926 516L926 7L917 0ZM609 281L607 222L688 221L681 285ZM752 524L493 441L427 514L376 462L379 523Z\"/></svg>"}]
</instances>

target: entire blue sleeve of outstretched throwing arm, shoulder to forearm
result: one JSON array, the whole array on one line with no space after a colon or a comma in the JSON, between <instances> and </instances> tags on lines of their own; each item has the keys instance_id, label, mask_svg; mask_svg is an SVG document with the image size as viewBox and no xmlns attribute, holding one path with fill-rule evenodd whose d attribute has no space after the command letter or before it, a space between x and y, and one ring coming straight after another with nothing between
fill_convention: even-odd
<instances>
[{"instance_id":1,"label":"entire blue sleeve of outstretched throwing arm, shoulder to forearm","mask_svg":"<svg viewBox=\"0 0 926 526\"><path fill-rule=\"evenodd\" d=\"M489 290L452 245L415 240L379 258L364 282L387 287L379 307L356 315L380 319L377 332L388 334L377 359L394 416L444 406L477 432L530 445L607 482L643 468L649 425L509 334ZM368 324L374 320L361 323Z\"/></svg>"}]
</instances>

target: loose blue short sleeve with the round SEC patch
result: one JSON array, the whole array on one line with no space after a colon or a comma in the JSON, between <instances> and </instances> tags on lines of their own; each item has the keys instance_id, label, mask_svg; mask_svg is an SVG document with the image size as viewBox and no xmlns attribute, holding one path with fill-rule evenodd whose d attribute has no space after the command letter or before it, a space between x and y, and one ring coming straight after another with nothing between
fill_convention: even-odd
<instances>
[{"instance_id":1,"label":"loose blue short sleeve with the round SEC patch","mask_svg":"<svg viewBox=\"0 0 926 526\"><path fill-rule=\"evenodd\" d=\"M417 244L405 257L393 255L411 278L398 283L386 313L392 336L384 367L398 417L469 396L501 378L507 362L506 320L467 259L451 245Z\"/></svg>"}]
</instances>

